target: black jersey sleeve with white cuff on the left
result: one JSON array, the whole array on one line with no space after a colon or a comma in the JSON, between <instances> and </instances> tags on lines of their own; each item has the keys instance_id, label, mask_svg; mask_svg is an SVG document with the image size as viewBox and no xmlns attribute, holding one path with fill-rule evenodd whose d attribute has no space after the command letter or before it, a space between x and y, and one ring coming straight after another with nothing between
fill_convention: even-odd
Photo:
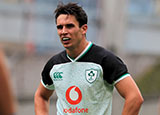
<instances>
[{"instance_id":1,"label":"black jersey sleeve with white cuff on the left","mask_svg":"<svg viewBox=\"0 0 160 115\"><path fill-rule=\"evenodd\" d=\"M54 90L54 84L53 84L53 81L49 75L52 67L53 67L52 60L49 60L47 62L47 64L45 65L45 67L43 68L43 71L41 73L41 75L42 75L41 83L45 88L47 88L49 90Z\"/></svg>"}]
</instances>

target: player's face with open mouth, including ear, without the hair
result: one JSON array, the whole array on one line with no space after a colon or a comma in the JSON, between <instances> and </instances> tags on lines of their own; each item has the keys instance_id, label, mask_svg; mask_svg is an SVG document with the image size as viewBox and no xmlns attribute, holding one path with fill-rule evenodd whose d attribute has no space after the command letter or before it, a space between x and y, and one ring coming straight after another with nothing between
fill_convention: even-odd
<instances>
[{"instance_id":1,"label":"player's face with open mouth, including ear, without the hair","mask_svg":"<svg viewBox=\"0 0 160 115\"><path fill-rule=\"evenodd\" d=\"M87 27L85 26L87 25L79 27L79 23L73 15L59 15L57 18L57 32L63 46L67 49L77 47L86 34Z\"/></svg>"}]
</instances>

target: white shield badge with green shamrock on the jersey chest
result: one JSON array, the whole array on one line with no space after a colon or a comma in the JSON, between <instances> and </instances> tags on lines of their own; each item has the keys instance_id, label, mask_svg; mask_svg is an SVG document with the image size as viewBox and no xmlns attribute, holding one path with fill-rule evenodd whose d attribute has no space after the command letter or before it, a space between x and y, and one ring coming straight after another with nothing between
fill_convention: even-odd
<instances>
[{"instance_id":1,"label":"white shield badge with green shamrock on the jersey chest","mask_svg":"<svg viewBox=\"0 0 160 115\"><path fill-rule=\"evenodd\" d=\"M96 70L96 69L87 69L85 74L86 74L86 80L89 83L93 83L97 78L98 70Z\"/></svg>"}]
</instances>

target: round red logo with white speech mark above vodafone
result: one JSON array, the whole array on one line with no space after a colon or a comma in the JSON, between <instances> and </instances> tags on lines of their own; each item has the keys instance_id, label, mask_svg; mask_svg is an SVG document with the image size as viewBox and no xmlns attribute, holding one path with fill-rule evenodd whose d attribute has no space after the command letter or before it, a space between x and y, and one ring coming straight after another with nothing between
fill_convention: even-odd
<instances>
[{"instance_id":1,"label":"round red logo with white speech mark above vodafone","mask_svg":"<svg viewBox=\"0 0 160 115\"><path fill-rule=\"evenodd\" d=\"M82 100L81 90L77 86L71 86L66 91L66 99L72 105L77 105Z\"/></svg>"}]
</instances>

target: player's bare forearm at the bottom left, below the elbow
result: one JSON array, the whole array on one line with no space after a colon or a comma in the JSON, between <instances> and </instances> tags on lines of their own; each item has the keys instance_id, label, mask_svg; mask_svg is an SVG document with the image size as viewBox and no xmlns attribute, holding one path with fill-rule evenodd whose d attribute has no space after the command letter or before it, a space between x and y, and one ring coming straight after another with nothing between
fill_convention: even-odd
<instances>
[{"instance_id":1,"label":"player's bare forearm at the bottom left, below the elbow","mask_svg":"<svg viewBox=\"0 0 160 115\"><path fill-rule=\"evenodd\" d=\"M49 100L35 96L35 115L49 115Z\"/></svg>"}]
</instances>

